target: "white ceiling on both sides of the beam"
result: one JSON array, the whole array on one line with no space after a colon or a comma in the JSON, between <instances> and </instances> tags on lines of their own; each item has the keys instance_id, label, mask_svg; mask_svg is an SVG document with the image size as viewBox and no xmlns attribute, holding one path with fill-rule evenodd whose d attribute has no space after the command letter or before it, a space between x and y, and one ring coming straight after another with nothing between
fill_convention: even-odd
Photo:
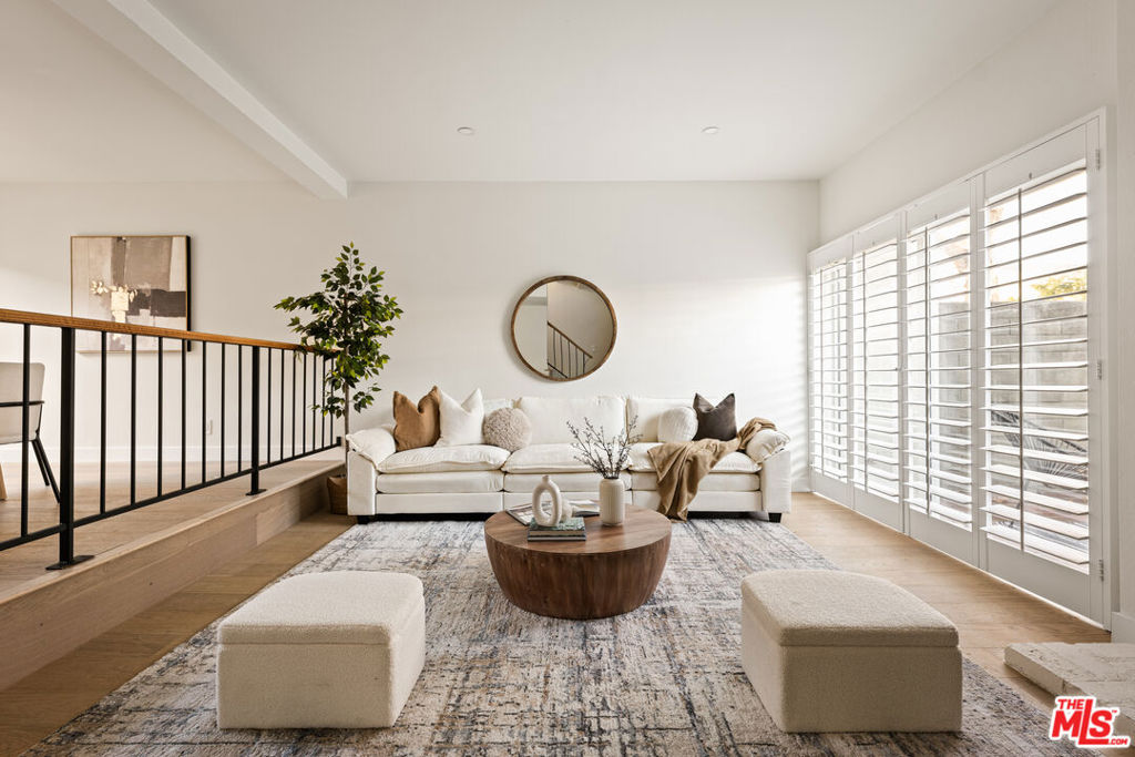
<instances>
[{"instance_id":1,"label":"white ceiling on both sides of the beam","mask_svg":"<svg viewBox=\"0 0 1135 757\"><path fill-rule=\"evenodd\" d=\"M1054 2L150 0L356 182L818 178ZM0 95L35 103L0 116L27 146L0 178L275 170L66 15L0 5Z\"/></svg>"}]
</instances>

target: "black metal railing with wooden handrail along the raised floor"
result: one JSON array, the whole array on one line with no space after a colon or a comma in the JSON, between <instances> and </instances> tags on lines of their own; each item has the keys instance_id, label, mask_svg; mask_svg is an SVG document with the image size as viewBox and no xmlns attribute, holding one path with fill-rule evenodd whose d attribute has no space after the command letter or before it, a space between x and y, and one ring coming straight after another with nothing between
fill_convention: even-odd
<instances>
[{"instance_id":1,"label":"black metal railing with wooden handrail along the raised floor","mask_svg":"<svg viewBox=\"0 0 1135 757\"><path fill-rule=\"evenodd\" d=\"M213 334L200 334L196 331L180 331L176 329L153 328L118 323L110 321L99 321L91 319L66 318L60 316L48 316L14 310L0 309L0 323L15 323L22 327L22 356L23 356L23 396L19 398L0 397L0 407L22 407L23 444L20 457L20 527L19 535L10 538L0 537L0 550L10 549L19 545L45 539L52 536L59 538L59 561L49 566L49 570L67 567L76 563L89 560L87 555L75 554L75 531L89 523L121 515L141 507L165 502L191 491L196 491L222 481L230 481L241 476L250 477L249 494L255 495L263 489L260 488L260 473L264 469L280 465L283 463L300 460L308 455L325 452L339 445L339 438L335 435L334 420L328 417L320 417L316 410L326 398L326 375L327 364L325 358L320 358L305 347L280 342L266 342L260 339L247 339L243 337L220 336ZM39 428L31 427L32 407L40 409L40 422L43 420L43 412L50 406L50 398L33 399L31 387L32 375L32 337L33 327L36 329L56 330L59 334L59 472L58 488L56 478L52 476L50 462L43 444L40 440ZM99 371L98 387L79 386L76 380L76 353L77 336L82 334L94 335L98 347L91 352L98 354ZM108 345L109 335L123 335L128 338L128 346L115 352L127 352L129 355L129 380L128 387L112 386L108 378L108 362L112 361L111 350ZM138 339L151 338L157 340L157 367L155 372L155 407L140 410L140 350ZM171 342L178 343L179 348L167 350ZM121 339L119 339L121 343ZM190 390L193 384L190 371L190 352L196 346L200 350L200 427L193 429L200 431L200 471L190 466L190 430L194 424L191 421ZM219 371L210 372L210 358L216 351L216 360L219 363ZM234 355L232 354L235 351ZM274 376L272 362L278 355L278 371ZM167 488L165 455L167 436L167 396L166 388L169 378L167 377L167 359L174 358L179 364L178 376L174 381L179 382L179 398L176 414L179 417L179 430L177 448L179 460L174 478L177 486ZM245 362L249 369L245 370ZM288 380L286 364L291 360L291 380ZM234 388L229 378L228 367L230 362L236 363L236 460L233 461L226 454L232 436L234 436L228 422L230 414L229 399ZM263 370L267 369L267 370ZM247 373L247 381L245 380ZM218 380L219 379L219 380ZM274 389L277 404L274 414ZM128 392L129 395L129 488L125 502L109 502L108 490L108 407L111 392ZM212 422L209 418L210 394L218 402L217 414L220 419L220 438L218 449L210 459L210 446L208 444L211 435ZM76 413L81 399L94 401L99 404L99 490L98 512L76 516ZM309 413L310 410L310 413ZM249 414L245 422L245 412ZM310 414L310 423L309 423ZM141 443L140 422L151 423L149 432L153 436L146 443ZM275 426L274 426L275 423ZM289 432L285 429L289 427ZM247 429L247 434L245 432ZM277 436L274 437L274 431ZM274 455L272 441L276 440L276 454ZM140 471L138 451L140 444L157 445L157 469L152 481L154 494L151 496L140 495ZM58 502L58 519L52 525L32 529L30 519L28 499L28 447L32 448L40 465L40 471L44 482L50 482ZM210 464L213 470L210 470ZM146 493L149 494L149 493ZM0 507L5 507L6 502L0 502Z\"/></svg>"}]
</instances>

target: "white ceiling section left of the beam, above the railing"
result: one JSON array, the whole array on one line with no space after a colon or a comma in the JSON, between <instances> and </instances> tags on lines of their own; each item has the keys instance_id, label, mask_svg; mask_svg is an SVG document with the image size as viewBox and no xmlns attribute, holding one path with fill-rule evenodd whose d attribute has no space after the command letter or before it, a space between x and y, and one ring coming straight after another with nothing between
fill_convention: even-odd
<instances>
[{"instance_id":1,"label":"white ceiling section left of the beam, above the railing","mask_svg":"<svg viewBox=\"0 0 1135 757\"><path fill-rule=\"evenodd\" d=\"M43 0L0 0L0 182L283 174Z\"/></svg>"}]
</instances>

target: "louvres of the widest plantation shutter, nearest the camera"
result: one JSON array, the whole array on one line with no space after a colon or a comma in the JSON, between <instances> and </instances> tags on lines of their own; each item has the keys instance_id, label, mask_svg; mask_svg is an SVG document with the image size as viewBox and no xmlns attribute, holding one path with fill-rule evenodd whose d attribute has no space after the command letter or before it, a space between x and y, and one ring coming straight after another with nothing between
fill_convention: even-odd
<instances>
[{"instance_id":1,"label":"louvres of the widest plantation shutter, nearest the camera","mask_svg":"<svg viewBox=\"0 0 1135 757\"><path fill-rule=\"evenodd\" d=\"M1085 572L1087 187L1078 159L992 194L983 219L984 530Z\"/></svg>"}]
</instances>

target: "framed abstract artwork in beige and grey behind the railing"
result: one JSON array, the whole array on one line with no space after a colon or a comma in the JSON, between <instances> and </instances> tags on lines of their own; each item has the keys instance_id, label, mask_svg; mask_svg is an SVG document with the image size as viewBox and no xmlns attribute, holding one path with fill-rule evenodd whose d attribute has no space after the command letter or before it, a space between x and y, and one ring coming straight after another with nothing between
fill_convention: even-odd
<instances>
[{"instance_id":1,"label":"framed abstract artwork in beige and grey behind the railing","mask_svg":"<svg viewBox=\"0 0 1135 757\"><path fill-rule=\"evenodd\" d=\"M73 236L72 316L118 323L190 330L190 237ZM101 350L93 331L78 331L81 352ZM157 337L137 337L140 351L158 350ZM182 348L163 340L168 352ZM128 334L108 334L108 352L128 352Z\"/></svg>"}]
</instances>

